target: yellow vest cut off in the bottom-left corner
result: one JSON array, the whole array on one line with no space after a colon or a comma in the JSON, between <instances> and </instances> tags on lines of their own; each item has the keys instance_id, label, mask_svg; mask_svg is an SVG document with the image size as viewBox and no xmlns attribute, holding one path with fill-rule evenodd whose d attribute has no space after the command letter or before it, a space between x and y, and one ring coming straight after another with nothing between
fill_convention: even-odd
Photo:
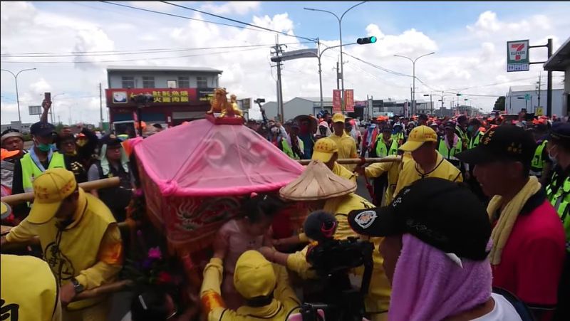
<instances>
[{"instance_id":1,"label":"yellow vest cut off in the bottom-left corner","mask_svg":"<svg viewBox=\"0 0 570 321\"><path fill-rule=\"evenodd\" d=\"M0 261L2 320L59 320L58 284L46 262L8 254Z\"/></svg>"}]
</instances>

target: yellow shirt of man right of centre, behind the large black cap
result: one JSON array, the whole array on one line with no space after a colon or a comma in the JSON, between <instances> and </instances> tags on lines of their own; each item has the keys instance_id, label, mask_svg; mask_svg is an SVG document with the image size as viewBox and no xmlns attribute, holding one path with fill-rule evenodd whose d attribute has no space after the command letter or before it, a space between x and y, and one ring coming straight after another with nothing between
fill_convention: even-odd
<instances>
[{"instance_id":1,"label":"yellow shirt of man right of centre, behind the large black cap","mask_svg":"<svg viewBox=\"0 0 570 321\"><path fill-rule=\"evenodd\" d=\"M450 181L463 181L460 170L450 162L447 162L439 152L436 151L436 153L437 160L435 161L435 169L432 169L432 171L428 173L423 172L423 169L421 169L418 163L413 159L410 159L409 162L404 162L404 167L402 172L400 172L400 177L398 177L398 184L396 185L393 195L398 195L405 186L410 186L414 181L427 177L438 177Z\"/></svg>"}]
</instances>

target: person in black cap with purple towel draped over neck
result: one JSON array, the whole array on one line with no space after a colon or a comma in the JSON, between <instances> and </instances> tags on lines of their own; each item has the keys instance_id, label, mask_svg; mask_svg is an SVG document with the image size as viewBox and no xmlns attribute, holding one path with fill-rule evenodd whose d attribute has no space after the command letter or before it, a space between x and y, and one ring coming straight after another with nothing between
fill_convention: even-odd
<instances>
[{"instance_id":1,"label":"person in black cap with purple towel draped over neck","mask_svg":"<svg viewBox=\"0 0 570 321\"><path fill-rule=\"evenodd\" d=\"M390 321L533 320L514 295L491 293L491 225L466 186L420 179L389 206L352 211L348 221L356 233L384 237Z\"/></svg>"}]
</instances>

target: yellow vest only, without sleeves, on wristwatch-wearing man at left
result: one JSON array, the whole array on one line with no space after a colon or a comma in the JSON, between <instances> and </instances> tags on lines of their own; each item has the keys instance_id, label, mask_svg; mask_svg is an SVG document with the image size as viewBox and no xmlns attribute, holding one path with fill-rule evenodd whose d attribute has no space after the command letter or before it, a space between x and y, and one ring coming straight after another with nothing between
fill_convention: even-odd
<instances>
[{"instance_id":1,"label":"yellow vest only, without sleeves, on wristwatch-wearing man at left","mask_svg":"<svg viewBox=\"0 0 570 321\"><path fill-rule=\"evenodd\" d=\"M82 270L98 262L99 245L110 224L116 223L102 201L79 189L78 210L82 211L78 221L60 231L56 219L36 225L36 234L40 238L43 256L50 266L59 285L71 282ZM58 235L61 239L58 243ZM58 251L59 250L59 251ZM72 302L68 310L80 310L95 305L101 299Z\"/></svg>"}]
</instances>

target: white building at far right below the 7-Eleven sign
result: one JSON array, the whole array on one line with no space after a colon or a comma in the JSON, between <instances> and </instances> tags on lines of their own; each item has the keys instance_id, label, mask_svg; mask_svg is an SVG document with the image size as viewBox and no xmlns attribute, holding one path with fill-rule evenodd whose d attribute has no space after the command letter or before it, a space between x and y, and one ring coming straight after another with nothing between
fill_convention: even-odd
<instances>
[{"instance_id":1,"label":"white building at far right below the 7-Eleven sign","mask_svg":"<svg viewBox=\"0 0 570 321\"><path fill-rule=\"evenodd\" d=\"M546 79L546 78L544 78ZM544 82L546 83L546 81ZM540 102L539 102L540 98ZM539 107L542 107L542 115L546 115L546 85L541 85L540 92L538 85L522 85L511 86L509 93L506 95L504 108L507 114L517 114L525 109L529 113L540 113ZM552 83L552 115L566 115L566 108L563 104L564 88L561 84Z\"/></svg>"}]
</instances>

